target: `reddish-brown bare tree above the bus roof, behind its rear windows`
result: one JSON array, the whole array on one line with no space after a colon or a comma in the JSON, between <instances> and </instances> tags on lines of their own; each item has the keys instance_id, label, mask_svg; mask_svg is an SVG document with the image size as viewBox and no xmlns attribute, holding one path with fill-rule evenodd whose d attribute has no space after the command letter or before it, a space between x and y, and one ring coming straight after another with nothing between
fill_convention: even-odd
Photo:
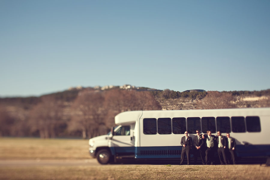
<instances>
[{"instance_id":1,"label":"reddish-brown bare tree above the bus roof, behind its rear windows","mask_svg":"<svg viewBox=\"0 0 270 180\"><path fill-rule=\"evenodd\" d=\"M235 108L232 93L220 93L218 91L207 91L207 95L199 103L201 109L225 109Z\"/></svg>"}]
</instances>

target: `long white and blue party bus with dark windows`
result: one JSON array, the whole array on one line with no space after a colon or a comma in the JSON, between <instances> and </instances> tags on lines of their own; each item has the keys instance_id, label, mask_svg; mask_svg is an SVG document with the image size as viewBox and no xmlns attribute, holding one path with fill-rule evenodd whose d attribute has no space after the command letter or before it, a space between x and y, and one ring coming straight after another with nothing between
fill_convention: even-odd
<instances>
[{"instance_id":1,"label":"long white and blue party bus with dark windows","mask_svg":"<svg viewBox=\"0 0 270 180\"><path fill-rule=\"evenodd\" d=\"M229 132L238 157L270 156L270 108L214 110L127 111L115 117L107 135L91 138L89 152L101 164L118 158L177 159L181 137L196 129L213 135Z\"/></svg>"}]
</instances>

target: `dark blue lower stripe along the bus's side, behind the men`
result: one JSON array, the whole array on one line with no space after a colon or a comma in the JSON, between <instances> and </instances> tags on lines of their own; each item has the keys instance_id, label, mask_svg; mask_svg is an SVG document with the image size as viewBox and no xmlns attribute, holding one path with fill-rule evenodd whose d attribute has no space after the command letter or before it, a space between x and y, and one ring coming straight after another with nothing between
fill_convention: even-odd
<instances>
[{"instance_id":1,"label":"dark blue lower stripe along the bus's side, behind the men","mask_svg":"<svg viewBox=\"0 0 270 180\"><path fill-rule=\"evenodd\" d=\"M182 146L110 147L110 149L112 155L134 155L140 159L181 158ZM237 145L236 154L238 157L270 156L270 145Z\"/></svg>"}]
</instances>

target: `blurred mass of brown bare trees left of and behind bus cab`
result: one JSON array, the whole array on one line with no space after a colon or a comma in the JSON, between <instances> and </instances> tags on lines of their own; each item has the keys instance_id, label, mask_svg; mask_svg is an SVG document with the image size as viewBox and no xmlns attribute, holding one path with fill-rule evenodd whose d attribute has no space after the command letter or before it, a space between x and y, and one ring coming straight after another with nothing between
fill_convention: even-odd
<instances>
[{"instance_id":1,"label":"blurred mass of brown bare trees left of and behind bus cab","mask_svg":"<svg viewBox=\"0 0 270 180\"><path fill-rule=\"evenodd\" d=\"M91 138L107 134L120 112L161 109L147 91L82 90L73 100L68 97L63 101L59 94L45 95L32 98L33 104L2 99L0 135Z\"/></svg>"}]
</instances>

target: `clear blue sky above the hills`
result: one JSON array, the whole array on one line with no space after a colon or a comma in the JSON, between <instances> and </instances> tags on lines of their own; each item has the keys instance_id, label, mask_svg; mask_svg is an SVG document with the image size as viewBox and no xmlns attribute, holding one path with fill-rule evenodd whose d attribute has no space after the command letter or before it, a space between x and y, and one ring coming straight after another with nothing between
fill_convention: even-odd
<instances>
[{"instance_id":1,"label":"clear blue sky above the hills","mask_svg":"<svg viewBox=\"0 0 270 180\"><path fill-rule=\"evenodd\" d=\"M270 88L270 1L0 0L0 96Z\"/></svg>"}]
</instances>

